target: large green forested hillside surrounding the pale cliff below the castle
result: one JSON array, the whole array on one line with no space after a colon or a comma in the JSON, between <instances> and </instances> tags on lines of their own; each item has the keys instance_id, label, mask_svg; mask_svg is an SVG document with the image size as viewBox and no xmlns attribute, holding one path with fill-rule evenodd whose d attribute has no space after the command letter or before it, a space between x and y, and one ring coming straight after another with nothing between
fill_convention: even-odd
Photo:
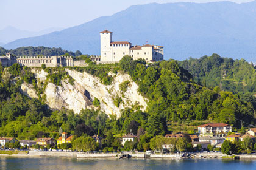
<instances>
[{"instance_id":1,"label":"large green forested hillside surrounding the pale cliff below the castle","mask_svg":"<svg viewBox=\"0 0 256 170\"><path fill-rule=\"evenodd\" d=\"M107 67L104 73L99 72ZM52 83L59 84L68 78L72 84L73 78L65 72L65 68L46 69L51 72L48 78ZM108 77L107 84L113 83L112 76L115 76L115 73L108 72L128 73L138 84L139 92L148 98L148 108L144 112L137 105L125 108L120 118L116 118L115 113L107 115L101 112L99 102L103 101L98 100L93 101L94 109L85 109L79 114L65 109L49 110L43 95L37 100L21 93L23 82L32 84L41 93L40 84L30 68L18 64L5 68L0 66L0 135L34 139L43 136L57 138L60 131L76 137L99 134L105 138L104 147L117 148L121 146L117 138L132 130L140 136L141 140L137 144L138 148L143 149L151 138L164 135L171 130L168 125L176 122L222 122L237 128L241 127L241 121L237 119L249 124L256 123L256 99L252 95L234 95L232 92L221 91L219 87L212 90L200 86L194 83L188 70L174 60L148 66L144 60L133 61L129 56L124 56L119 64L89 63L89 67L73 69L99 77L102 83L105 82L105 75ZM125 90L127 86L129 82L123 83L121 89ZM116 98L113 104L119 106L121 102L120 98Z\"/></svg>"}]
</instances>

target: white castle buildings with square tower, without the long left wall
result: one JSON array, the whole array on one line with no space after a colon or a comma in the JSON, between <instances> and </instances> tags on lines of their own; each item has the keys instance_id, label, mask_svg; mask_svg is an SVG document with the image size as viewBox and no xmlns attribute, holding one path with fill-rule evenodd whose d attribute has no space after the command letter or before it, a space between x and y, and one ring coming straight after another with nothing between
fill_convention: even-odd
<instances>
[{"instance_id":1,"label":"white castle buildings with square tower, without the long left wall","mask_svg":"<svg viewBox=\"0 0 256 170\"><path fill-rule=\"evenodd\" d=\"M108 30L100 32L102 63L119 62L125 55L131 56L133 60L142 58L146 62L163 60L163 46L132 46L132 43L127 41L112 41L112 34Z\"/></svg>"}]
</instances>

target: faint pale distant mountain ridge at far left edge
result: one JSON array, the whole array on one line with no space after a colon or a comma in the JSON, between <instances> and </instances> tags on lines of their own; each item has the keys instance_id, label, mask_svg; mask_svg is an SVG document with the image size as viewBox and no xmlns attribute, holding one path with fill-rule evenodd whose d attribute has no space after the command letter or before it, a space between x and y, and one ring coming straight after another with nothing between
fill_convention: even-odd
<instances>
[{"instance_id":1,"label":"faint pale distant mountain ridge at far left edge","mask_svg":"<svg viewBox=\"0 0 256 170\"><path fill-rule=\"evenodd\" d=\"M2 44L6 44L7 42L15 41L16 39L27 38L31 36L40 36L46 33L51 33L59 30L63 30L63 28L51 27L51 28L36 32L36 31L29 31L29 30L20 30L11 26L5 27L4 29L0 30L0 46Z\"/></svg>"}]
</instances>

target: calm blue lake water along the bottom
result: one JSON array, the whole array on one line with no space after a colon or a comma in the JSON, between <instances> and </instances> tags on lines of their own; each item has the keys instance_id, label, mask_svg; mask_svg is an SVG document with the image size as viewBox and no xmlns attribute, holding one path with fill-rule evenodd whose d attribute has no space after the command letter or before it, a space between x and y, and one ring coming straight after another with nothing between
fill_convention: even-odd
<instances>
[{"instance_id":1,"label":"calm blue lake water along the bottom","mask_svg":"<svg viewBox=\"0 0 256 170\"><path fill-rule=\"evenodd\" d=\"M0 157L0 169L256 169L256 160L168 160L63 157Z\"/></svg>"}]
</instances>

